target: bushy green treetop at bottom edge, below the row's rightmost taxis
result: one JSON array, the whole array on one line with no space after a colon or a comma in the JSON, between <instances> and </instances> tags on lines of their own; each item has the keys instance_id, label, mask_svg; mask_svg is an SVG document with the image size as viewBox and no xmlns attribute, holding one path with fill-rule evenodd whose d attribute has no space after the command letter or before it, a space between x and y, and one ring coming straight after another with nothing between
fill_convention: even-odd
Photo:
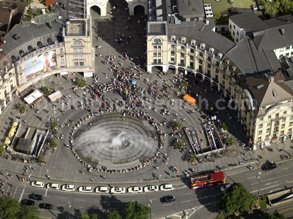
<instances>
[{"instance_id":1,"label":"bushy green treetop at bottom edge, below the row's rightmost taxis","mask_svg":"<svg viewBox=\"0 0 293 219\"><path fill-rule=\"evenodd\" d=\"M138 204L137 201L129 201L124 209L126 214L125 219L148 219L150 208L143 204Z\"/></svg>"}]
</instances>

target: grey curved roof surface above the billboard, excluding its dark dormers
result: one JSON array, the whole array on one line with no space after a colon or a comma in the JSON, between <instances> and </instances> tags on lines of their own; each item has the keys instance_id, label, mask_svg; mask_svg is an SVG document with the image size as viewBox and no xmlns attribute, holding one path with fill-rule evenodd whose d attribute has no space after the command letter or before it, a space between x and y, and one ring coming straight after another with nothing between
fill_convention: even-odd
<instances>
[{"instance_id":1,"label":"grey curved roof surface above the billboard, excluding its dark dormers","mask_svg":"<svg viewBox=\"0 0 293 219\"><path fill-rule=\"evenodd\" d=\"M39 15L38 17L42 17ZM45 22L42 24L17 24L4 36L5 44L1 44L3 51L8 55L19 57L19 51L24 53L28 51L28 46L38 48L37 42L40 41L43 45L47 44L47 39L51 38L52 42L57 41L57 35L61 34L61 25L56 20L51 21L52 29ZM16 35L20 35L20 39L15 40Z\"/></svg>"}]
</instances>

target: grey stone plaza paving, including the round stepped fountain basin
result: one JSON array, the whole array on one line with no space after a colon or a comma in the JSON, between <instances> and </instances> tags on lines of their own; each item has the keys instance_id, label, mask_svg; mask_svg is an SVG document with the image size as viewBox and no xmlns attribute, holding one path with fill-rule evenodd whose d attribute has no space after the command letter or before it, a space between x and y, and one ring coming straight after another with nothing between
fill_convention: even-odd
<instances>
[{"instance_id":1,"label":"grey stone plaza paving, including the round stepped fountain basin","mask_svg":"<svg viewBox=\"0 0 293 219\"><path fill-rule=\"evenodd\" d=\"M118 1L114 1L114 3L118 3ZM108 2L108 10L110 8L110 3ZM126 7L125 5L122 8ZM108 11L109 12L109 11ZM110 65L104 65L102 61L107 60L109 55L115 55L117 58L115 60L116 63L119 63L119 68L123 70L124 68L130 68L130 66L137 62L132 62L131 60L123 61L122 56L119 53L122 49L124 51L129 52L129 57L144 56L145 46L140 42L140 40L145 40L144 38L144 21L141 18L141 14L137 14L135 16L130 16L132 23L124 22L124 20L128 20L128 14L125 10L119 10L119 16L116 19L113 19L113 15L118 13L114 11L112 15L107 13L106 17L100 17L99 15L94 15L93 11L91 15L93 15L93 24L96 25L96 29L92 29L93 32L93 46L102 46L101 49L96 48L96 53L103 53L104 58L96 57L95 60L95 74L98 74L100 80L98 83L110 83L114 80L114 74L110 71ZM112 18L112 22L109 23L107 21L108 18ZM138 24L138 20L141 22ZM131 27L131 30L126 30L126 25ZM134 31L137 28L137 31L141 34L141 37L137 36L137 33ZM132 45L124 45L115 43L114 37L116 33L120 32L121 34L125 32L125 36L127 38L128 35L131 36ZM105 35L102 39L100 37L99 41L96 36ZM107 39L109 36L109 40ZM135 60L134 60L135 61ZM121 63L123 62L123 67ZM50 151L47 153L46 161L47 164L44 167L39 167L36 164L33 164L32 167L36 168L35 171L31 171L32 179L36 178L46 178L46 175L50 175L50 180L58 180L64 182L82 182L82 183L138 183L143 182L143 179L153 178L154 175L158 175L159 178L163 179L168 176L167 173L170 171L171 166L177 167L179 169L179 174L183 175L186 171L195 168L197 172L200 171L210 171L215 169L216 167L227 166L227 164L235 164L239 163L239 161L243 161L243 159L257 158L258 155L263 155L264 159L271 159L271 154L267 151L258 150L256 152L246 152L244 154L244 149L239 147L241 142L246 142L247 138L243 133L243 128L240 127L240 124L237 123L235 111L231 109L221 110L219 113L220 120L226 122L231 130L230 133L237 139L237 145L233 147L236 153L231 156L223 157L221 159L217 159L216 162L207 162L204 165L192 166L188 162L183 161L183 153L176 152L173 149L174 141L171 138L171 123L173 121L181 121L184 127L190 126L197 131L202 131L202 119L205 115L200 115L195 112L195 114L190 114L192 109L196 109L197 106L190 107L183 103L183 101L177 97L176 93L178 92L178 83L173 84L173 79L176 79L175 74L168 73L166 76L163 76L163 79L159 77L157 70L151 74L146 74L137 79L137 84L141 88L148 89L149 85L147 85L146 81L151 83L158 82L156 86L157 90L160 94L162 93L163 88L165 88L166 84L175 85L174 88L169 89L169 93L171 93L169 99L174 99L174 105L172 105L169 115L163 115L164 106L168 104L167 94L164 93L164 101L159 102L156 105L152 105L150 109L148 109L147 115L156 118L159 122L167 121L166 125L160 126L160 129L163 133L166 133L167 136L164 137L164 146L161 150L161 159L158 159L159 162L157 164L152 163L149 166L143 167L139 170L135 170L135 172L128 171L127 173L104 173L100 171L86 171L86 166L82 164L76 157L74 157L73 152L70 147L66 147L69 142L70 133L72 133L72 127L76 126L78 121L81 118L88 118L90 115L89 112L85 109L80 110L79 106L81 101L85 101L85 89L88 86L91 86L94 82L93 78L85 78L87 82L87 87L85 89L78 89L76 95L73 92L73 87L76 85L73 83L73 79L80 79L82 75L77 74L74 77L70 76L68 80L64 77L57 78L53 77L51 80L43 79L42 84L36 84L36 88L40 89L44 86L52 86L56 85L56 90L58 87L63 86L64 90L62 90L62 102L68 103L65 104L64 107L64 115L62 115L62 111L56 110L56 115L54 115L54 106L56 108L60 108L60 105L56 102L48 102L45 100L40 105L38 105L38 109L40 111L39 114L36 114L33 109L28 109L28 112L25 115L21 115L21 119L27 121L28 126L39 127L42 129L48 128L48 117L56 116L59 124L58 134L56 138L64 135L64 140L59 140L60 146L57 148L56 152L53 154ZM193 81L193 76L189 75L191 81ZM165 82L166 81L166 82ZM207 94L203 95L203 97L207 98L209 105L212 106L217 99L220 98L219 94L215 94L214 92L210 92L210 88L206 84L195 84L192 86L192 93L204 93L204 90L207 89ZM25 92L23 93L25 94ZM73 98L66 98L66 95L70 95ZM182 96L182 95L181 95ZM101 107L102 99L98 98L96 102L94 97L89 95L89 97L94 102L94 109L98 111ZM150 95L147 95L148 98L151 98ZM108 93L108 100L116 102L120 98L124 99L118 94ZM155 101L154 97L152 100ZM74 101L74 102L73 102ZM8 106L4 109L3 114L1 115L1 139L6 135L6 127L9 127L13 121L15 121L19 116L19 111L17 110L18 105L23 104L22 100L19 96L16 96L13 101L11 101ZM78 106L78 109L71 109L72 105ZM183 105L186 106L186 109L183 108ZM199 106L201 108L201 106ZM154 110L157 108L158 110ZM207 113L207 110L203 109L204 113ZM176 114L178 113L178 116ZM229 119L228 113L232 116L232 119ZM125 118L123 120L123 118ZM183 119L185 121L183 122ZM71 120L74 120L74 123L71 123ZM91 123L91 125L90 125ZM69 124L69 126L67 126ZM61 128L63 126L63 128ZM88 161L90 164L96 165L98 168L101 166L108 166L109 168L118 168L119 169L129 169L130 167L141 165L142 161L146 161L153 157L158 150L158 140L154 140L154 137L157 135L153 126L151 126L147 121L137 117L125 116L123 117L122 113L103 113L98 114L97 117L90 117L88 121L84 121L81 125L79 131L77 131L75 138L75 142L78 142L79 145L76 146L76 151L78 155L83 158L85 161ZM123 143L126 142L126 145ZM120 144L121 143L121 144ZM108 145L108 147L107 147ZM168 164L165 163L166 159L163 158L164 154L167 154L166 157L169 158ZM101 160L98 162L98 160ZM249 163L253 164L253 163ZM247 165L247 164L246 164ZM255 166L261 165L253 164ZM23 174L24 166L26 166L22 162L11 161L10 159L0 160L0 169L2 171L9 171L14 174ZM157 168L158 167L158 168ZM246 168L245 165L243 168ZM82 174L84 172L84 174ZM170 171L171 172L171 171ZM30 174L30 173L24 173ZM105 175L105 178L102 176ZM171 176L177 175L176 173L171 173ZM41 179L40 179L41 180ZM165 180L165 179L163 179Z\"/></svg>"}]
</instances>

